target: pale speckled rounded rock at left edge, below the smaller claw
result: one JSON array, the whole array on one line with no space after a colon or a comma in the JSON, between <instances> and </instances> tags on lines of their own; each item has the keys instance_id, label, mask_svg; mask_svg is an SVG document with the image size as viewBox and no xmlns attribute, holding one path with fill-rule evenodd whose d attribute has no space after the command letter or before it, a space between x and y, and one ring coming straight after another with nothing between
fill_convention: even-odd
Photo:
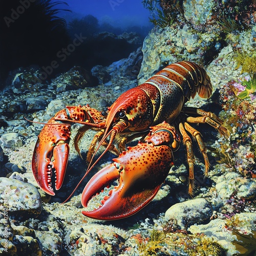
<instances>
[{"instance_id":1,"label":"pale speckled rounded rock at left edge, below the smaller claw","mask_svg":"<svg viewBox=\"0 0 256 256\"><path fill-rule=\"evenodd\" d=\"M0 209L8 208L8 215L15 220L36 217L41 212L38 190L30 183L15 179L0 178Z\"/></svg>"}]
</instances>

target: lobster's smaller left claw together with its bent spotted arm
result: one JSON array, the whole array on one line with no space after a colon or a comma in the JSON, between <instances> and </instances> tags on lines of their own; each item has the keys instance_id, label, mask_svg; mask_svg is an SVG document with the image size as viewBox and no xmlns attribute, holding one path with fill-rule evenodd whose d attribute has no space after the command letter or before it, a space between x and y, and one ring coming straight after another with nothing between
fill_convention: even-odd
<instances>
[{"instance_id":1,"label":"lobster's smaller left claw together with its bent spotted arm","mask_svg":"<svg viewBox=\"0 0 256 256\"><path fill-rule=\"evenodd\" d=\"M37 184L54 196L52 172L55 173L55 189L58 190L65 177L69 158L71 123L90 118L90 106L67 106L52 117L43 127L35 145L32 171Z\"/></svg>"}]
</instances>

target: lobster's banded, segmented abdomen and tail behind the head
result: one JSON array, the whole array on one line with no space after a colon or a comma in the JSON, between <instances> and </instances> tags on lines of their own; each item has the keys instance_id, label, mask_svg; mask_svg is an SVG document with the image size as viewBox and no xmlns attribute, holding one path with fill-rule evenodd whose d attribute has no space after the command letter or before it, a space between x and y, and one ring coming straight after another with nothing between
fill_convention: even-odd
<instances>
[{"instance_id":1,"label":"lobster's banded, segmented abdomen and tail behind the head","mask_svg":"<svg viewBox=\"0 0 256 256\"><path fill-rule=\"evenodd\" d=\"M172 122L181 112L184 103L198 93L210 97L212 85L206 71L194 62L173 63L147 79L137 88L152 99L154 122Z\"/></svg>"}]
</instances>

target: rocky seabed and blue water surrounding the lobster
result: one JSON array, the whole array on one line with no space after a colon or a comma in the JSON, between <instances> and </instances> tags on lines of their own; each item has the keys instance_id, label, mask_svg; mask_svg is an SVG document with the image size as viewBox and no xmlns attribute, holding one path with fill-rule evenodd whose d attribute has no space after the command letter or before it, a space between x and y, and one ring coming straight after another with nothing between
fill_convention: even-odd
<instances>
[{"instance_id":1,"label":"rocky seabed and blue water surrounding the lobster","mask_svg":"<svg viewBox=\"0 0 256 256\"><path fill-rule=\"evenodd\" d=\"M255 1L0 4L1 254L256 255ZM87 170L91 130L79 145L83 159L71 146L56 195L38 187L31 160L44 125L36 122L46 123L66 105L106 111L121 93L183 60L204 67L213 86L209 99L196 96L186 105L215 113L230 132L226 139L207 124L195 126L210 170L204 177L194 143L193 197L181 145L157 196L129 218L100 221L81 213L83 187L116 158L112 153L60 204ZM78 129L72 125L72 138Z\"/></svg>"}]
</instances>

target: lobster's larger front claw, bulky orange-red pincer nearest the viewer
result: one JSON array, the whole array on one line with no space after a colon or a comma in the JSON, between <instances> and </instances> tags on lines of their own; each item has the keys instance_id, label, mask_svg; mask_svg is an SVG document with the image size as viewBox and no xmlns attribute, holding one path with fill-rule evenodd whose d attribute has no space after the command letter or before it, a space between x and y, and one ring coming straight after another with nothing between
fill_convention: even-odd
<instances>
[{"instance_id":1,"label":"lobster's larger front claw, bulky orange-red pincer nearest the viewer","mask_svg":"<svg viewBox=\"0 0 256 256\"><path fill-rule=\"evenodd\" d=\"M101 200L101 205L82 214L100 220L131 216L151 202L174 164L172 149L167 145L141 143L128 147L111 163L96 173L82 193L82 205L108 184L118 179L119 184Z\"/></svg>"}]
</instances>

